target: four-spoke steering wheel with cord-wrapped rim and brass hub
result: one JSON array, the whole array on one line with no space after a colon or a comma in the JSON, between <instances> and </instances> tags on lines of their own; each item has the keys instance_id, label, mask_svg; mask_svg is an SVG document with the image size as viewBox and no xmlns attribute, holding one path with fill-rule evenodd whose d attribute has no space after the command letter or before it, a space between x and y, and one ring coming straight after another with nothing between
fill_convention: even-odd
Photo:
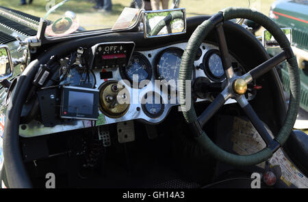
<instances>
[{"instance_id":1,"label":"four-spoke steering wheel with cord-wrapped rim and brass hub","mask_svg":"<svg viewBox=\"0 0 308 202\"><path fill-rule=\"evenodd\" d=\"M270 31L270 33L272 33L283 49L283 52L272 57L271 59L268 59L268 61L261 63L259 66L253 68L242 76L235 75L231 66L227 42L224 37L224 29L222 27L224 20L231 20L234 18L246 18L259 23L265 29ZM201 46L201 43L207 37L209 32L213 29L216 29L222 66L227 77L227 85L214 99L214 101L209 104L207 109L205 109L205 111L197 117L194 106L190 104L192 103L191 96L186 98L186 96L188 96L186 91L190 89L186 89L185 83L190 82L192 79L192 67L194 65L194 58L196 58L198 48ZM249 104L246 100L244 93L246 92L248 83L251 83L253 79L259 78L259 76L265 74L274 68L274 66L277 66L285 60L287 61L287 68L290 74L290 103L283 126L277 136L272 139L264 124L253 110L251 104ZM296 57L294 56L289 40L287 40L285 34L283 34L281 29L272 20L270 20L270 18L253 10L244 8L227 8L222 12L218 12L218 14L215 14L208 20L205 20L191 35L181 59L181 66L179 70L179 95L185 121L192 126L194 139L196 139L196 142L201 145L205 151L209 152L209 154L217 160L233 164L235 166L258 164L268 160L268 158L270 158L272 154L276 152L277 149L285 143L285 141L287 141L287 138L294 126L300 101L300 77ZM238 104L240 104L244 113L246 113L248 118L251 120L261 138L266 142L266 147L261 151L255 154L243 156L231 154L213 143L203 131L202 128L205 123L218 111L218 109L220 109L224 102L230 98L235 99Z\"/></svg>"}]
</instances>

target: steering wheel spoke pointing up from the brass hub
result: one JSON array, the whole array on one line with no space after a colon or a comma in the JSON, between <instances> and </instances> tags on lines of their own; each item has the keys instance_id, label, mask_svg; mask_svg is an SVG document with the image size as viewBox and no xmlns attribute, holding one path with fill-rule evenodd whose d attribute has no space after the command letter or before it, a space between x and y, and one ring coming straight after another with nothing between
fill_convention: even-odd
<instances>
[{"instance_id":1,"label":"steering wheel spoke pointing up from the brass hub","mask_svg":"<svg viewBox=\"0 0 308 202\"><path fill-rule=\"evenodd\" d=\"M220 58L222 61L222 67L224 68L224 74L226 74L227 78L233 78L234 71L232 68L232 63L228 51L227 41L226 37L224 35L224 28L222 27L223 23L219 23L216 26L216 32L217 32L217 40L218 40L218 46L220 51Z\"/></svg>"}]
</instances>

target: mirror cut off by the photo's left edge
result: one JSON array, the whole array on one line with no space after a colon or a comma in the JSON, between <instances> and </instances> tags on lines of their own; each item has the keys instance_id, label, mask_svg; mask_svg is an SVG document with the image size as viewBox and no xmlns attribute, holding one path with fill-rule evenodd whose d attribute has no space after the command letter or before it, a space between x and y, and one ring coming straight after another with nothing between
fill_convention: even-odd
<instances>
[{"instance_id":1,"label":"mirror cut off by the photo's left edge","mask_svg":"<svg viewBox=\"0 0 308 202\"><path fill-rule=\"evenodd\" d=\"M10 50L6 45L0 45L0 81L13 75L13 64Z\"/></svg>"}]
</instances>

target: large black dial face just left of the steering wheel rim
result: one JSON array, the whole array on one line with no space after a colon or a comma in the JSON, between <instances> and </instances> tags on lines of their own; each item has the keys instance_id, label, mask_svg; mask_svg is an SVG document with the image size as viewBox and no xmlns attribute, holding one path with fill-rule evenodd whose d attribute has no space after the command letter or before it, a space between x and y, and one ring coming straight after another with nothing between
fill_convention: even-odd
<instances>
[{"instance_id":1,"label":"large black dial face just left of the steering wheel rim","mask_svg":"<svg viewBox=\"0 0 308 202\"><path fill-rule=\"evenodd\" d=\"M179 48L168 48L159 57L157 62L157 76L166 80L172 90L177 90L179 68L183 51Z\"/></svg>"}]
</instances>

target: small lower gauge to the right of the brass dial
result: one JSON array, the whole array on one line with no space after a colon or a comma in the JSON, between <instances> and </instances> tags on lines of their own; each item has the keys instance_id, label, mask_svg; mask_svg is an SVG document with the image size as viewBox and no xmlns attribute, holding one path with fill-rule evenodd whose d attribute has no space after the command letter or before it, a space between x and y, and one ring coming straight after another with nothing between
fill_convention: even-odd
<instances>
[{"instance_id":1,"label":"small lower gauge to the right of the brass dial","mask_svg":"<svg viewBox=\"0 0 308 202\"><path fill-rule=\"evenodd\" d=\"M151 118L157 118L164 112L164 102L158 93L148 92L142 98L142 110Z\"/></svg>"}]
</instances>

